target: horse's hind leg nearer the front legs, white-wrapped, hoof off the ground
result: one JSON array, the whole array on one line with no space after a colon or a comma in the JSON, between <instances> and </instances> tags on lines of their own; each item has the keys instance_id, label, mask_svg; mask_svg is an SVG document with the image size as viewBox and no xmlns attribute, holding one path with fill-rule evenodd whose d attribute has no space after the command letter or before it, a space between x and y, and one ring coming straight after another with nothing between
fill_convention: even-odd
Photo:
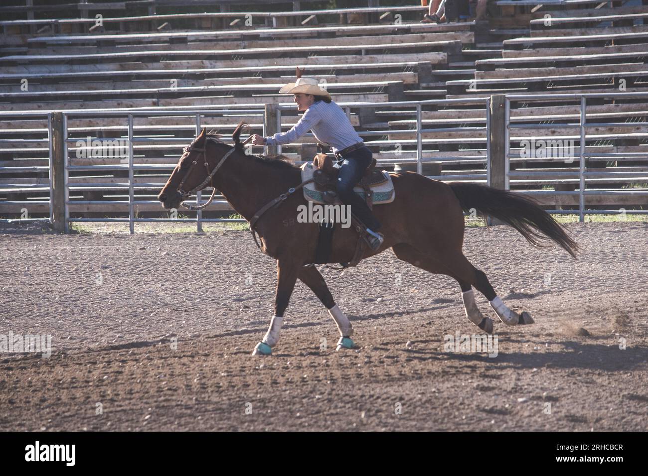
<instances>
[{"instance_id":1,"label":"horse's hind leg nearer the front legs, white-wrapped, hoof off the ground","mask_svg":"<svg viewBox=\"0 0 648 476\"><path fill-rule=\"evenodd\" d=\"M472 292L470 282L457 277L457 275L452 273L450 269L441 264L438 260L432 258L432 256L419 253L417 249L411 247L410 245L399 244L395 245L392 249L400 260L413 264L416 267L420 267L421 269L424 269L425 271L428 271L430 273L437 275L447 275L455 278L457 282L459 282L459 286L461 286L461 300L463 300L463 309L466 313L466 317L468 317L470 322L478 326L484 332L492 334L492 319L490 319L489 317L484 317L481 314L475 302L475 297L474 293Z\"/></svg>"}]
</instances>

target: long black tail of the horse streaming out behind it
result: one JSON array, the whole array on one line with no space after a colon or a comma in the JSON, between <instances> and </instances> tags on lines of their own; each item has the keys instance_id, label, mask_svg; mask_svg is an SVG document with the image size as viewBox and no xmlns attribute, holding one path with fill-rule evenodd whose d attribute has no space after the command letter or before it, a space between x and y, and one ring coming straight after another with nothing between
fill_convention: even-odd
<instances>
[{"instance_id":1,"label":"long black tail of the horse streaming out behind it","mask_svg":"<svg viewBox=\"0 0 648 476\"><path fill-rule=\"evenodd\" d=\"M482 215L492 216L511 225L536 247L548 246L544 241L551 240L576 257L575 252L579 251L579 246L567 236L560 223L538 207L535 200L515 192L475 183L456 182L451 183L450 188L465 212L478 210Z\"/></svg>"}]
</instances>

